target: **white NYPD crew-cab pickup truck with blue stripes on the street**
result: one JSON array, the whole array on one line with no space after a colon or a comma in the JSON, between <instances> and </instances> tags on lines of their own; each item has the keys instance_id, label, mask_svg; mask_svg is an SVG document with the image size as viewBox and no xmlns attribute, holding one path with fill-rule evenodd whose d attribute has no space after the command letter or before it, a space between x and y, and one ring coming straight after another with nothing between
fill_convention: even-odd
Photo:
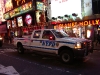
<instances>
[{"instance_id":1,"label":"white NYPD crew-cab pickup truck with blue stripes on the street","mask_svg":"<svg viewBox=\"0 0 100 75\"><path fill-rule=\"evenodd\" d=\"M24 53L25 49L52 53L60 56L64 63L93 52L91 40L70 37L64 31L55 29L33 30L29 36L14 38L14 45L18 53Z\"/></svg>"}]
</instances>

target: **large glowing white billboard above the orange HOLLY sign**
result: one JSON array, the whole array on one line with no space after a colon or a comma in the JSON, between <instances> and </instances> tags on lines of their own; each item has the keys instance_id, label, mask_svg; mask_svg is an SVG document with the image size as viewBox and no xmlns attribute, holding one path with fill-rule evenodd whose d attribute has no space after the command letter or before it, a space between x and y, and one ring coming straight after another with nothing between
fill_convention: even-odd
<instances>
[{"instance_id":1,"label":"large glowing white billboard above the orange HOLLY sign","mask_svg":"<svg viewBox=\"0 0 100 75\"><path fill-rule=\"evenodd\" d=\"M71 15L81 16L81 0L51 0L51 17Z\"/></svg>"}]
</instances>

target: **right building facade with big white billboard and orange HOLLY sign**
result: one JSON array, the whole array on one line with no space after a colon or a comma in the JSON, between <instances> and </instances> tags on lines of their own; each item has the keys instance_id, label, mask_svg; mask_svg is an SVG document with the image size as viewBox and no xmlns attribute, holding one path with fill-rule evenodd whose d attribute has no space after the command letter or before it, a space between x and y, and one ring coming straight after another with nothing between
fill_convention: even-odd
<instances>
[{"instance_id":1,"label":"right building facade with big white billboard and orange HOLLY sign","mask_svg":"<svg viewBox=\"0 0 100 75\"><path fill-rule=\"evenodd\" d=\"M51 28L64 30L77 37L95 40L100 17L93 13L93 0L49 0Z\"/></svg>"}]
</instances>

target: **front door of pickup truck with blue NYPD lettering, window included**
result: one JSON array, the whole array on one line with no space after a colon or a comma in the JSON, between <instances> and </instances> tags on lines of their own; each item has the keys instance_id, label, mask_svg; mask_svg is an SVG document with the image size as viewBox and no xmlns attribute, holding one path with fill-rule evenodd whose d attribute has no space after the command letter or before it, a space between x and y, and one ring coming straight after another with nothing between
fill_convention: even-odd
<instances>
[{"instance_id":1,"label":"front door of pickup truck with blue NYPD lettering, window included","mask_svg":"<svg viewBox=\"0 0 100 75\"><path fill-rule=\"evenodd\" d=\"M55 53L55 36L50 30L44 30L40 42L41 50L49 53Z\"/></svg>"}]
</instances>

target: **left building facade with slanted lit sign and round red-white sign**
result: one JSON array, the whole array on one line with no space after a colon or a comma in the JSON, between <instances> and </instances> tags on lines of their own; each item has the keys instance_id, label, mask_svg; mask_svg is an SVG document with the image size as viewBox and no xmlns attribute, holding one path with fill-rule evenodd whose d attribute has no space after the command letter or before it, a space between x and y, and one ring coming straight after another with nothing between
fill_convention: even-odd
<instances>
[{"instance_id":1,"label":"left building facade with slanted lit sign and round red-white sign","mask_svg":"<svg viewBox=\"0 0 100 75\"><path fill-rule=\"evenodd\" d=\"M34 29L45 28L46 0L6 0L4 18L8 36L29 35Z\"/></svg>"}]
</instances>

